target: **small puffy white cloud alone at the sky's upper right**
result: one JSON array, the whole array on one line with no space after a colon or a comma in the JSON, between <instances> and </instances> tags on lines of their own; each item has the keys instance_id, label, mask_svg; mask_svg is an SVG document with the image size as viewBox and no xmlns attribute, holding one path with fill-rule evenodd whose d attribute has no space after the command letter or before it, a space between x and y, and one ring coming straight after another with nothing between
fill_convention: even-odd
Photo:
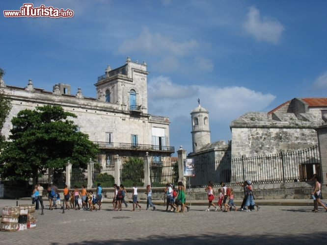
<instances>
[{"instance_id":1,"label":"small puffy white cloud alone at the sky's upper right","mask_svg":"<svg viewBox=\"0 0 327 245\"><path fill-rule=\"evenodd\" d=\"M272 17L264 16L261 18L260 11L252 6L249 7L244 29L257 41L277 44L281 38L284 26Z\"/></svg>"}]
</instances>

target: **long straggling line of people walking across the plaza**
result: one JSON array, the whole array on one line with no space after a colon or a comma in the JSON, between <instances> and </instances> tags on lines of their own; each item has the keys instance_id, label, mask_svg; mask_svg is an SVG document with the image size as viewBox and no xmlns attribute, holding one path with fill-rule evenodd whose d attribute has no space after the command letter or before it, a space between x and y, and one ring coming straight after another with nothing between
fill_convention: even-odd
<instances>
[{"instance_id":1,"label":"long straggling line of people walking across the plaza","mask_svg":"<svg viewBox=\"0 0 327 245\"><path fill-rule=\"evenodd\" d=\"M312 198L314 200L314 209L312 212L317 213L318 212L318 204L320 204L327 212L327 205L325 205L322 201L322 192L321 192L321 181L320 177L317 174L314 174L313 180L315 182L314 189L312 191ZM242 186L244 189L244 199L241 205L241 208L236 208L234 204L234 192L233 189L230 187L227 187L225 183L220 183L221 188L218 188L218 194L216 195L213 187L213 183L209 181L208 186L205 188L205 191L207 192L209 205L208 208L205 209L205 211L210 211L210 208L213 207L215 211L223 211L228 212L232 211L233 208L235 211L254 211L255 207L257 208L257 211L259 211L260 206L257 205L254 201L254 195L253 195L253 188L252 183L250 180L245 180L243 183L237 183L239 186ZM32 192L32 204L35 203L35 209L39 209L39 202L41 204L41 207L43 208L43 199L42 199L42 193L44 188L37 184L34 186L33 192ZM121 185L113 185L113 210L115 211L121 211L122 210L122 204L125 205L125 207L128 207L128 204L125 200L125 197L129 196L127 195L127 191L124 188L124 186ZM102 201L102 193L103 189L101 187L101 184L97 184L96 192L93 193L93 191L87 191L85 189L85 186L82 185L82 189L78 189L77 186L74 186L74 190L69 190L67 188L67 185L65 185L65 188L63 189L63 195L64 195L64 203L66 209L75 209L75 210L100 210L102 207L101 201ZM152 203L152 189L150 185L146 186L146 192L147 196L147 203L146 203L146 210L149 208L153 208L153 210L156 210L155 205ZM186 210L189 211L190 207L186 205L186 188L183 184L183 182L178 182L177 189L174 185L167 183L166 187L164 189L164 195L166 196L166 209L165 212L185 212ZM60 203L60 195L58 192L58 188L54 186L53 184L49 184L49 186L46 189L46 196L49 200L49 209L53 210L53 208L56 208L57 205L61 206ZM141 210L141 205L137 201L137 186L136 183L133 184L133 194L132 194L132 200L133 200L133 209L131 211L135 211L137 208ZM217 205L215 202L215 197L217 197ZM228 200L228 201L227 201ZM96 209L96 205L98 205L98 209ZM81 207L82 206L82 207ZM61 206L62 208L62 206Z\"/></svg>"}]
</instances>

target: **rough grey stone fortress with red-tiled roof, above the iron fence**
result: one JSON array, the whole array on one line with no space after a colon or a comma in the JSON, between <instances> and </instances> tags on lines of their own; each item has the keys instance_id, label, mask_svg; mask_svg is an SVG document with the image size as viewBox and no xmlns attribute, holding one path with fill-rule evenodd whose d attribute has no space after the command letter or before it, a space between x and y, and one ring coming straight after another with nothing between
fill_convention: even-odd
<instances>
[{"instance_id":1,"label":"rough grey stone fortress with red-tiled roof, above the iron fence","mask_svg":"<svg viewBox=\"0 0 327 245\"><path fill-rule=\"evenodd\" d=\"M293 98L268 113L245 113L230 125L232 158L315 146L325 114L327 98Z\"/></svg>"}]
</instances>

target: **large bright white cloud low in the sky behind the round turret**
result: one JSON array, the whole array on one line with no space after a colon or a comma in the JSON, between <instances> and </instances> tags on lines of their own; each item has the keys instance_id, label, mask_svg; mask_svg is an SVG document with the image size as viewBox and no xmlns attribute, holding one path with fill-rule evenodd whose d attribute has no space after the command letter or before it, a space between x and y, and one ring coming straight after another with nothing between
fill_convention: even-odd
<instances>
[{"instance_id":1,"label":"large bright white cloud low in the sky behind the round turret","mask_svg":"<svg viewBox=\"0 0 327 245\"><path fill-rule=\"evenodd\" d=\"M154 77L148 83L149 111L171 119L190 115L200 98L201 106L210 113L211 124L229 123L249 111L262 111L275 96L245 87L181 86L169 77ZM164 106L163 106L164 105Z\"/></svg>"}]
</instances>

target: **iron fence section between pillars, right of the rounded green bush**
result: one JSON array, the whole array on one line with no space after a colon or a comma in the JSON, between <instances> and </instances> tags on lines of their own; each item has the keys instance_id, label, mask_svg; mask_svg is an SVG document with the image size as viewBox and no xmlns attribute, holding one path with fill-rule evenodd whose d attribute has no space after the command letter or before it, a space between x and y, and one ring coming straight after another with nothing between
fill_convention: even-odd
<instances>
[{"instance_id":1,"label":"iron fence section between pillars, right of the rounded green bush","mask_svg":"<svg viewBox=\"0 0 327 245\"><path fill-rule=\"evenodd\" d=\"M177 185L178 178L178 162L151 162L150 181L152 187L162 187L166 183Z\"/></svg>"}]
</instances>

